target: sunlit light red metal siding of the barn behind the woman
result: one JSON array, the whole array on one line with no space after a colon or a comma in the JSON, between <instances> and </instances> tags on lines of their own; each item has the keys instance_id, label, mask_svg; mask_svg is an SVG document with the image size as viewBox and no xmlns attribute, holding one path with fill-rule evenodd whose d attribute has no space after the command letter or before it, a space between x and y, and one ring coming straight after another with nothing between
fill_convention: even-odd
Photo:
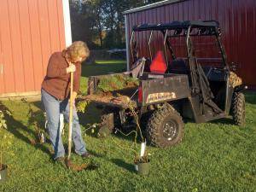
<instances>
[{"instance_id":1,"label":"sunlit light red metal siding of the barn behind the woman","mask_svg":"<svg viewBox=\"0 0 256 192\"><path fill-rule=\"evenodd\" d=\"M2 0L0 17L0 94L40 90L50 54L65 48L62 1Z\"/></svg>"}]
</instances>

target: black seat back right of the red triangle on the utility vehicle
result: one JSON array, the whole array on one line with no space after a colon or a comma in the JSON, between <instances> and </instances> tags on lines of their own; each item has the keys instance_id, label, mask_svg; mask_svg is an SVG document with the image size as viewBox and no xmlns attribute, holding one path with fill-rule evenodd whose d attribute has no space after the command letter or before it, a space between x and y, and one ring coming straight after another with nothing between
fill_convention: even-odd
<instances>
[{"instance_id":1,"label":"black seat back right of the red triangle on the utility vehicle","mask_svg":"<svg viewBox=\"0 0 256 192\"><path fill-rule=\"evenodd\" d=\"M182 58L177 58L168 65L167 72L175 74L189 74L189 66Z\"/></svg>"}]
</instances>

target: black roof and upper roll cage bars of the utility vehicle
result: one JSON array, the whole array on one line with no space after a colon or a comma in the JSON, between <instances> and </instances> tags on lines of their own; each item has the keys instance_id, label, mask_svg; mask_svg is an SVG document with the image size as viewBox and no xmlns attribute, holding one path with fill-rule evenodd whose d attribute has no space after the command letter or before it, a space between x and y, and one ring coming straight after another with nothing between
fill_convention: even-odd
<instances>
[{"instance_id":1,"label":"black roof and upper roll cage bars of the utility vehicle","mask_svg":"<svg viewBox=\"0 0 256 192\"><path fill-rule=\"evenodd\" d=\"M134 34L135 32L143 32L143 31L150 31L150 36L148 39L148 50L150 59L152 61L152 51L151 51L151 41L152 41L152 35L154 31L160 31L162 32L164 36L164 52L166 57L166 63L168 63L167 53L166 53L166 47L169 49L172 59L176 59L176 55L174 53L174 50L172 49L172 44L168 41L169 38L186 38L186 46L188 48L188 57L190 57L190 49L191 49L191 39L190 37L195 36L215 36L218 42L218 47L221 51L221 55L223 58L224 67L229 67L227 63L227 56L224 50L224 47L221 44L220 41L220 28L218 21L215 20L205 20L205 21L173 21L172 23L168 24L158 24L158 25L149 25L149 24L143 24L141 26L134 26L131 33L131 41L130 41L130 48L131 48L131 57L132 61L134 62L136 60L136 48L132 46L133 40L134 40ZM174 31L173 34L169 35L168 33L170 31ZM134 54L135 53L135 54Z\"/></svg>"}]
</instances>

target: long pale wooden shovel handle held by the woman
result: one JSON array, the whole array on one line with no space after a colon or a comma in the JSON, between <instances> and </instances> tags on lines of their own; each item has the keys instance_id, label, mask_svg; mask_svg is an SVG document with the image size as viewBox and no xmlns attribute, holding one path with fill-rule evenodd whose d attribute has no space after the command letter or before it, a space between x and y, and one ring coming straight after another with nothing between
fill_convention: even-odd
<instances>
[{"instance_id":1,"label":"long pale wooden shovel handle held by the woman","mask_svg":"<svg viewBox=\"0 0 256 192\"><path fill-rule=\"evenodd\" d=\"M70 154L71 154L72 125L73 125L73 72L70 73L70 98L69 98L69 125L68 125L68 154L67 154L67 160L70 159Z\"/></svg>"}]
</instances>

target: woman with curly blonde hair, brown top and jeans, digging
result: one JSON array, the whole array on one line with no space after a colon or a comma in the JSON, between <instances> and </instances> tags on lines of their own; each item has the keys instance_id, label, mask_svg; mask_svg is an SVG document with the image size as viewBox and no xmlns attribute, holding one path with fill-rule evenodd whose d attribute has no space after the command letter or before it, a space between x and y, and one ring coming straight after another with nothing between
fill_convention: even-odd
<instances>
[{"instance_id":1,"label":"woman with curly blonde hair, brown top and jeans, digging","mask_svg":"<svg viewBox=\"0 0 256 192\"><path fill-rule=\"evenodd\" d=\"M73 144L75 152L82 157L89 157L86 151L79 118L74 106L74 100L69 101L70 73L73 73L73 98L75 99L80 84L81 62L90 55L90 50L84 42L71 44L62 52L55 52L49 58L47 74L42 83L42 102L48 119L49 139L55 150L54 159L64 160L65 149L61 139L60 113L68 122L69 104L73 104Z\"/></svg>"}]
</instances>

